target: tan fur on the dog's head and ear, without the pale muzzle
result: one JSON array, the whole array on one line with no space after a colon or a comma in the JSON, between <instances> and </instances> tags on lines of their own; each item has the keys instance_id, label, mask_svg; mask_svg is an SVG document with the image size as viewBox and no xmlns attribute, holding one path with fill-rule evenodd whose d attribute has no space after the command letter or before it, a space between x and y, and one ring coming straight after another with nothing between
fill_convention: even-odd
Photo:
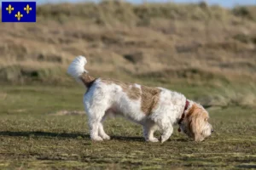
<instances>
[{"instance_id":1,"label":"tan fur on the dog's head and ear, without the pale muzzle","mask_svg":"<svg viewBox=\"0 0 256 170\"><path fill-rule=\"evenodd\" d=\"M197 104L193 104L186 114L185 120L188 123L189 136L194 138L195 141L200 141L202 126L207 119L207 111Z\"/></svg>"}]
</instances>

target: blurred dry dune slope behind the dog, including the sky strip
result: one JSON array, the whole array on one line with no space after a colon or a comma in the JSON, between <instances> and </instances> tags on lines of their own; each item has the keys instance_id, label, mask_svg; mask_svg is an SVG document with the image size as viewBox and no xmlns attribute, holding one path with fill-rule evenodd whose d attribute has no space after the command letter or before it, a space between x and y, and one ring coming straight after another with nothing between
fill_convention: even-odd
<instances>
[{"instance_id":1,"label":"blurred dry dune slope behind the dog, including the sky strip","mask_svg":"<svg viewBox=\"0 0 256 170\"><path fill-rule=\"evenodd\" d=\"M95 77L256 103L256 0L37 2L36 23L0 25L3 85L75 85L67 65L85 55Z\"/></svg>"}]
</instances>

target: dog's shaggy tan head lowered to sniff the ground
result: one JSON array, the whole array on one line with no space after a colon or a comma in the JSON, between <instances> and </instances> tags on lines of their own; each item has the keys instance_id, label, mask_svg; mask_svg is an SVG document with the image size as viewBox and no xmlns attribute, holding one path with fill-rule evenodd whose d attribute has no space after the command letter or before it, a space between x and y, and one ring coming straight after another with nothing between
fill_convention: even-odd
<instances>
[{"instance_id":1,"label":"dog's shaggy tan head lowered to sniff the ground","mask_svg":"<svg viewBox=\"0 0 256 170\"><path fill-rule=\"evenodd\" d=\"M201 105L193 103L189 110L186 111L180 128L190 138L200 142L213 132L212 125L208 122L208 119L208 112Z\"/></svg>"}]
</instances>

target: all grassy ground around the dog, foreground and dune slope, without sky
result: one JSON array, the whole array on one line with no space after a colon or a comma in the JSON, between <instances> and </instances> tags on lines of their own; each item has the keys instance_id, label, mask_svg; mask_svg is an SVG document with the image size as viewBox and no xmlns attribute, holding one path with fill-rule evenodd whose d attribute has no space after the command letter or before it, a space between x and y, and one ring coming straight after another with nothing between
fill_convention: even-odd
<instances>
[{"instance_id":1,"label":"all grassy ground around the dog, foreground and dune slope, without sky","mask_svg":"<svg viewBox=\"0 0 256 170\"><path fill-rule=\"evenodd\" d=\"M255 6L104 1L37 12L37 23L0 25L0 169L256 169ZM66 74L76 55L92 76L200 102L215 133L195 143L176 127L151 144L118 118L105 122L110 141L91 142L85 89Z\"/></svg>"}]
</instances>

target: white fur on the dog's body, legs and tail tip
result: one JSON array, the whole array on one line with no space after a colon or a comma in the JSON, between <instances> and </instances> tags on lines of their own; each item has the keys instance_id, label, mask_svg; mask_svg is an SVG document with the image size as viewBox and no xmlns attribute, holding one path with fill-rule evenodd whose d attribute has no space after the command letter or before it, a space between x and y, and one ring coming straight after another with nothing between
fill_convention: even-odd
<instances>
[{"instance_id":1,"label":"white fur on the dog's body, legs and tail tip","mask_svg":"<svg viewBox=\"0 0 256 170\"><path fill-rule=\"evenodd\" d=\"M68 74L79 79L84 72L86 59L82 56L73 60L68 67ZM133 88L141 85L133 84ZM132 88L130 86L129 88ZM130 99L124 90L115 83L107 84L102 79L96 79L90 89L84 94L84 109L89 118L90 138L92 140L110 139L104 132L102 122L108 115L124 116L143 126L143 135L147 141L157 142L154 131L162 132L161 142L170 138L173 125L181 118L186 103L183 94L178 94L166 88L160 88L160 101L150 115L141 110L141 99ZM190 101L189 107L192 105Z\"/></svg>"}]
</instances>

